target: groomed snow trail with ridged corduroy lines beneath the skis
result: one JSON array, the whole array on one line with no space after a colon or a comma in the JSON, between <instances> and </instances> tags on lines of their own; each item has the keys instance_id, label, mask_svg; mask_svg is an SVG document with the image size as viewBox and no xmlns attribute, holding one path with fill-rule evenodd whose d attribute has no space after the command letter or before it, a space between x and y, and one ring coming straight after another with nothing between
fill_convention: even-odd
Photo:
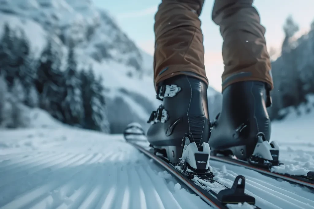
<instances>
[{"instance_id":1,"label":"groomed snow trail with ridged corduroy lines beneath the skis","mask_svg":"<svg viewBox=\"0 0 314 209\"><path fill-rule=\"evenodd\" d=\"M0 209L208 208L122 135L73 128L0 135ZM314 208L307 189L237 166L211 165L227 186L245 175L247 192L261 208Z\"/></svg>"}]
</instances>

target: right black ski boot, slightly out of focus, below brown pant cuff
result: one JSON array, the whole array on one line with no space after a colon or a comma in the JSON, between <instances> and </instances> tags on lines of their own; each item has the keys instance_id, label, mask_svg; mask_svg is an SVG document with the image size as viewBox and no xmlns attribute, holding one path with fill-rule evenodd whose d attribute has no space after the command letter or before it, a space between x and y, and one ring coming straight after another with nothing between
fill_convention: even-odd
<instances>
[{"instance_id":1,"label":"right black ski boot, slightly out of focus, below brown pant cuff","mask_svg":"<svg viewBox=\"0 0 314 209\"><path fill-rule=\"evenodd\" d=\"M268 84L237 82L226 87L222 95L222 110L213 122L208 142L212 154L278 162L278 144L269 144L271 123L266 107L272 101Z\"/></svg>"}]
</instances>

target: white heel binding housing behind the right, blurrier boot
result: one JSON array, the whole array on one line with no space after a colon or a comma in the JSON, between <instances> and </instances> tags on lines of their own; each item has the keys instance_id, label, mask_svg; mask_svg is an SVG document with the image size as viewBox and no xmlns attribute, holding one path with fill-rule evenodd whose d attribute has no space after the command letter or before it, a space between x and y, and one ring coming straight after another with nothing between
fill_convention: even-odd
<instances>
[{"instance_id":1,"label":"white heel binding housing behind the right, blurrier boot","mask_svg":"<svg viewBox=\"0 0 314 209\"><path fill-rule=\"evenodd\" d=\"M266 160L273 160L273 157L276 157L278 159L279 156L272 156L270 150L279 151L278 143L275 141L272 141L271 143L269 143L268 141L258 142L255 146L253 155Z\"/></svg>"}]
</instances>

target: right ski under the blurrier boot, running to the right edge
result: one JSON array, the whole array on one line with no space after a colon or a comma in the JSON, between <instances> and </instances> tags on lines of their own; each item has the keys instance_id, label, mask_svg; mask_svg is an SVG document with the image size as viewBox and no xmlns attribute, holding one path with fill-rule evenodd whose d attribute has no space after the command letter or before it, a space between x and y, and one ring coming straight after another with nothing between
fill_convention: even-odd
<instances>
[{"instance_id":1,"label":"right ski under the blurrier boot, running to the right edge","mask_svg":"<svg viewBox=\"0 0 314 209\"><path fill-rule=\"evenodd\" d=\"M258 165L252 165L248 161L241 159L234 159L229 156L210 156L211 160L216 160L223 163L228 163L231 165L237 165L241 167L245 167L250 170L255 170L263 175L268 175L272 178L281 178L289 181L293 184L299 184L311 189L314 189L314 171L309 171L307 175L289 175L289 174L280 174L277 172L271 171L270 168L261 167Z\"/></svg>"}]
</instances>

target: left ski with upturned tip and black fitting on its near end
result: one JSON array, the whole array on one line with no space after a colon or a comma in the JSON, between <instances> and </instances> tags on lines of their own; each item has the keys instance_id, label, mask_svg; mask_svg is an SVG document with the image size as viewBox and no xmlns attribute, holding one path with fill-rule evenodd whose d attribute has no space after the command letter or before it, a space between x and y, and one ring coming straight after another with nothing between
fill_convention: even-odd
<instances>
[{"instance_id":1,"label":"left ski with upturned tip and black fitting on its near end","mask_svg":"<svg viewBox=\"0 0 314 209\"><path fill-rule=\"evenodd\" d=\"M134 133L134 134L133 134ZM143 140L144 134L143 129L139 124L131 123L127 126L124 132L124 138L127 143L131 144L133 147L138 149L140 152L145 154L148 158L153 159L154 162L161 167L163 167L167 172L175 176L180 182L186 185L191 191L196 195L201 197L209 206L213 208L229 208L227 204L238 204L238 203L248 203L255 206L255 198L245 194L245 177L238 175L231 188L223 185L217 180L214 180L213 173L206 170L201 170L201 172L195 171L191 166L185 166L185 158L179 159L177 165L173 165L168 159L163 157L156 149L154 149L150 144ZM136 140L136 138L140 138ZM183 140L182 140L183 141ZM195 143L194 143L195 144ZM193 143L188 145L183 145L183 147L192 152ZM208 145L208 144L207 144ZM203 149L206 150L206 145ZM191 149L191 150L190 150ZM209 149L209 146L208 146ZM196 153L195 156L201 155L201 153ZM190 154L189 158L193 158ZM209 159L209 156L208 156ZM194 159L198 160L198 159ZM198 160L201 164L206 164L206 161ZM209 163L209 162L208 162ZM207 165L208 165L207 163ZM192 164L190 162L190 164ZM204 165L203 165L204 166ZM214 191L214 190L220 191ZM255 208L259 208L255 206Z\"/></svg>"}]
</instances>

